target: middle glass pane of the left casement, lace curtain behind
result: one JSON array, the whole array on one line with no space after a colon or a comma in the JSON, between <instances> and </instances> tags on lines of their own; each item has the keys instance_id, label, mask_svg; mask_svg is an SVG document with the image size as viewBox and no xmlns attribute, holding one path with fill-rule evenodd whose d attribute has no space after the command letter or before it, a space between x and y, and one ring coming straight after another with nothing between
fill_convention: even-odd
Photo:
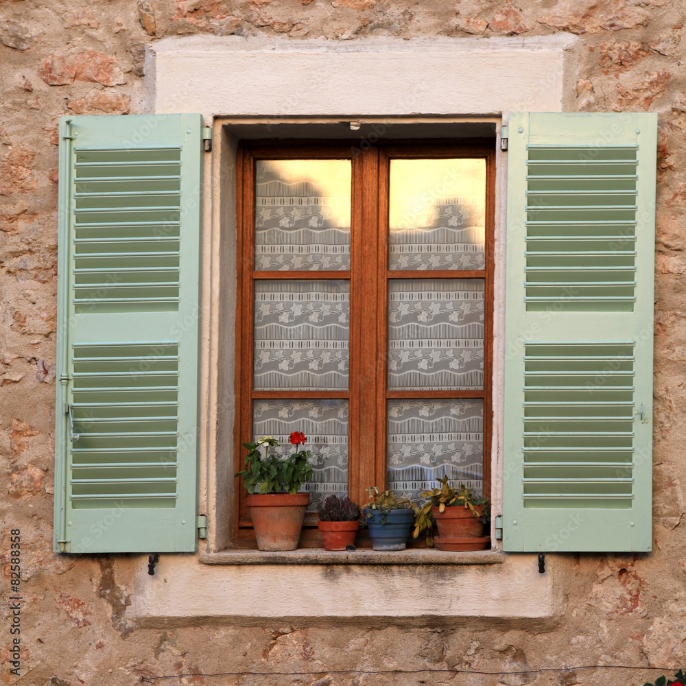
<instances>
[{"instance_id":1,"label":"middle glass pane of the left casement, lace curtain behind","mask_svg":"<svg viewBox=\"0 0 686 686\"><path fill-rule=\"evenodd\" d=\"M349 281L255 282L255 390L344 390Z\"/></svg>"}]
</instances>

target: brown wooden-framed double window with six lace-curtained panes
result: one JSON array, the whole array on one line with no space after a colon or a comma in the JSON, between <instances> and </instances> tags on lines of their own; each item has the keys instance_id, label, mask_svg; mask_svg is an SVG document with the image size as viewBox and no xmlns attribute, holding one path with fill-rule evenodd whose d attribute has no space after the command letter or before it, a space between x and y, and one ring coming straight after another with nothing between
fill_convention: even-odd
<instances>
[{"instance_id":1,"label":"brown wooden-framed double window with six lace-curtained panes","mask_svg":"<svg viewBox=\"0 0 686 686\"><path fill-rule=\"evenodd\" d=\"M310 510L444 475L490 493L494 147L242 148L237 467L303 431Z\"/></svg>"}]
</instances>

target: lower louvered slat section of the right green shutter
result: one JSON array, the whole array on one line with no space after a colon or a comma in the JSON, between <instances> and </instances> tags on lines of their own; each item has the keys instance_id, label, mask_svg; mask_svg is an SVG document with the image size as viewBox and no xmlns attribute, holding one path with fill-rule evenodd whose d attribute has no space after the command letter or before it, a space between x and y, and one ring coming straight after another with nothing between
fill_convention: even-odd
<instances>
[{"instance_id":1,"label":"lower louvered slat section of the right green shutter","mask_svg":"<svg viewBox=\"0 0 686 686\"><path fill-rule=\"evenodd\" d=\"M632 344L525 344L526 507L630 506L633 361Z\"/></svg>"}]
</instances>

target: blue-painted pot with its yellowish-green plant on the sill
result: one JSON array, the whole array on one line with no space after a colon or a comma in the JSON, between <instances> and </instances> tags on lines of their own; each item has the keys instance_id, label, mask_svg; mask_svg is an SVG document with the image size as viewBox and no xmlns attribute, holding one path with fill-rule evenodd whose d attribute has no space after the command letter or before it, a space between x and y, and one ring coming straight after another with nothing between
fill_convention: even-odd
<instances>
[{"instance_id":1,"label":"blue-painted pot with its yellowish-green plant on the sill","mask_svg":"<svg viewBox=\"0 0 686 686\"><path fill-rule=\"evenodd\" d=\"M367 488L370 501L364 506L372 547L375 550L404 550L412 531L415 506L411 500L390 490L379 492L376 486Z\"/></svg>"}]
</instances>

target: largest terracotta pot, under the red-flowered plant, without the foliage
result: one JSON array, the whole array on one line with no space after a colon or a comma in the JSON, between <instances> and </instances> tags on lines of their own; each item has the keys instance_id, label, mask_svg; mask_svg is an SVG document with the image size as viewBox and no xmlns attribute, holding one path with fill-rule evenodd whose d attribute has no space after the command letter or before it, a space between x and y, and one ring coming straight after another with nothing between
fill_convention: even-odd
<instances>
[{"instance_id":1,"label":"largest terracotta pot, under the red-flowered plant, without the foliage","mask_svg":"<svg viewBox=\"0 0 686 686\"><path fill-rule=\"evenodd\" d=\"M260 550L295 550L309 493L248 495L248 510Z\"/></svg>"}]
</instances>

